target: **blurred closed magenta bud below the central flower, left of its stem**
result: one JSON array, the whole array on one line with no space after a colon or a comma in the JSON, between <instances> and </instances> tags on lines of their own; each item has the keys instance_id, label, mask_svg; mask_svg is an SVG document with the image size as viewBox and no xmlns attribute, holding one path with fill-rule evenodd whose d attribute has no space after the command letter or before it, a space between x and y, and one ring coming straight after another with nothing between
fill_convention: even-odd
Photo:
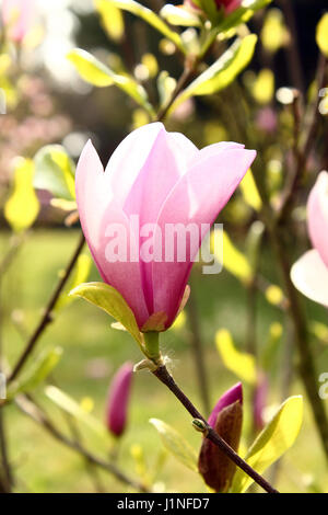
<instances>
[{"instance_id":1,"label":"blurred closed magenta bud below the central flower, left of its stem","mask_svg":"<svg viewBox=\"0 0 328 515\"><path fill-rule=\"evenodd\" d=\"M109 387L106 423L115 436L121 436L126 428L132 375L133 365L127 362L117 370Z\"/></svg>"}]
</instances>

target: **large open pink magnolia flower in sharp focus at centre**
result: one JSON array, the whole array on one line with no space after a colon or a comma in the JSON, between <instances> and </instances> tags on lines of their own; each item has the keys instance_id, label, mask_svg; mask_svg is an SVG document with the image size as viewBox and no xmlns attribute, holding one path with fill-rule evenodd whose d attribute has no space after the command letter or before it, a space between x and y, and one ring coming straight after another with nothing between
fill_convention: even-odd
<instances>
[{"instance_id":1,"label":"large open pink magnolia flower in sharp focus at centre","mask_svg":"<svg viewBox=\"0 0 328 515\"><path fill-rule=\"evenodd\" d=\"M140 330L150 317L160 318L161 327L148 324L144 331L163 331L174 322L204 237L201 226L215 220L255 157L254 150L234 142L198 150L161 123L132 131L105 172L91 141L84 147L75 176L82 229L104 282L122 295ZM176 251L166 259L172 252L164 238L167 227L190 224L200 229L196 244L186 242L183 260ZM126 230L125 255L108 261L116 226ZM145 243L153 249L152 260L140 258Z\"/></svg>"}]
</instances>

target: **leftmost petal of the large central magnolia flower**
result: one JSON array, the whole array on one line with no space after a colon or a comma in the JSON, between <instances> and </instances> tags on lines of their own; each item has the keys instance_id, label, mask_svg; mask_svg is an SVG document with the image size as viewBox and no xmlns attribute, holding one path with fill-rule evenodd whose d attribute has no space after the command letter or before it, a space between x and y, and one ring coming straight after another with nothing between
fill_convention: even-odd
<instances>
[{"instance_id":1,"label":"leftmost petal of the large central magnolia flower","mask_svg":"<svg viewBox=\"0 0 328 515\"><path fill-rule=\"evenodd\" d=\"M110 186L91 141L84 147L75 175L77 202L80 221L95 264L105 283L121 293L141 327L149 318L138 262L109 261L106 254L110 241L108 230L117 224L125 229L127 256L130 254L130 224L112 197ZM136 242L134 242L136 244Z\"/></svg>"}]
</instances>

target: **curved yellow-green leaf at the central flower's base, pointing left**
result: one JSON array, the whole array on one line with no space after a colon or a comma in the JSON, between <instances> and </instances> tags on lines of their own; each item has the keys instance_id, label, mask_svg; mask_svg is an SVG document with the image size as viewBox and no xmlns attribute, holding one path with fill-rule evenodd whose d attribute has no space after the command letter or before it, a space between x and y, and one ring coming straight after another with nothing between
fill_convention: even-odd
<instances>
[{"instance_id":1,"label":"curved yellow-green leaf at the central flower's base, pointing left","mask_svg":"<svg viewBox=\"0 0 328 515\"><path fill-rule=\"evenodd\" d=\"M84 283L74 288L70 296L82 297L106 311L117 322L120 322L131 336L142 345L142 336L136 317L126 300L113 286L105 283Z\"/></svg>"}]
</instances>

